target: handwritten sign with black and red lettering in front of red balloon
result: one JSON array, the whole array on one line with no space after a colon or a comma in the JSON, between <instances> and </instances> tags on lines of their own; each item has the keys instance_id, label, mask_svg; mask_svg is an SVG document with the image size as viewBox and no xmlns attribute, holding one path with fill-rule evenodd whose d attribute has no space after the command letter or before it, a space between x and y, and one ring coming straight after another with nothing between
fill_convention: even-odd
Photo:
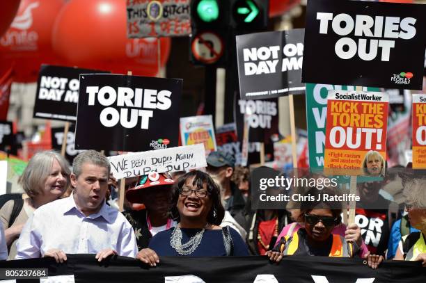
<instances>
[{"instance_id":1,"label":"handwritten sign with black and red lettering in front of red balloon","mask_svg":"<svg viewBox=\"0 0 426 283\"><path fill-rule=\"evenodd\" d=\"M128 0L129 38L184 36L191 33L189 0Z\"/></svg>"}]
</instances>

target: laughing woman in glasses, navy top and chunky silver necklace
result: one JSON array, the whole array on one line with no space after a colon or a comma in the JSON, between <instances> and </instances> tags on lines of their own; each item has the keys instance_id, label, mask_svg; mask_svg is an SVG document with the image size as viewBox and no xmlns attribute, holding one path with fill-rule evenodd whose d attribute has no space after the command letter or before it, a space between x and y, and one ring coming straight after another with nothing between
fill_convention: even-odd
<instances>
[{"instance_id":1,"label":"laughing woman in glasses, navy top and chunky silver necklace","mask_svg":"<svg viewBox=\"0 0 426 283\"><path fill-rule=\"evenodd\" d=\"M212 178L198 170L183 175L173 186L168 209L169 218L178 226L152 237L149 248L141 250L136 259L156 266L164 256L248 255L241 236L219 226L223 215L219 187Z\"/></svg>"}]
</instances>

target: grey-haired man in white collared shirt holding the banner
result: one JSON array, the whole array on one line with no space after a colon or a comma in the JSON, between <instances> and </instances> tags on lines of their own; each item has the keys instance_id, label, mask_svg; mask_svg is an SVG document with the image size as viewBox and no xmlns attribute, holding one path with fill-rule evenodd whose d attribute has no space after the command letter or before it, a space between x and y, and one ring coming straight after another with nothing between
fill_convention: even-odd
<instances>
[{"instance_id":1,"label":"grey-haired man in white collared shirt holding the banner","mask_svg":"<svg viewBox=\"0 0 426 283\"><path fill-rule=\"evenodd\" d=\"M79 154L72 163L70 197L43 205L26 222L17 241L15 259L96 254L102 261L111 254L136 257L132 226L105 203L110 165L94 150Z\"/></svg>"}]
</instances>

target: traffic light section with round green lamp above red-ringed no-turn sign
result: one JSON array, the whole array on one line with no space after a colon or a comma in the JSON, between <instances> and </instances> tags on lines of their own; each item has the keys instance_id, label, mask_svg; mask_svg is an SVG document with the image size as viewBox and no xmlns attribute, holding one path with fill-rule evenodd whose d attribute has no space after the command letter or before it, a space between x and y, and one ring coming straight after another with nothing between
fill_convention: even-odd
<instances>
[{"instance_id":1,"label":"traffic light section with round green lamp above red-ringed no-turn sign","mask_svg":"<svg viewBox=\"0 0 426 283\"><path fill-rule=\"evenodd\" d=\"M230 36L228 0L191 1L191 60L196 65L223 66Z\"/></svg>"}]
</instances>

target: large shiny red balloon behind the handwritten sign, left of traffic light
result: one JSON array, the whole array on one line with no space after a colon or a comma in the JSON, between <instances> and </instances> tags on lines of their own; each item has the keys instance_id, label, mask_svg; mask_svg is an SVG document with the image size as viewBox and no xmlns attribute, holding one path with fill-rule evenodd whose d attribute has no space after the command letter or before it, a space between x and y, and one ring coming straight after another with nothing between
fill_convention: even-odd
<instances>
[{"instance_id":1,"label":"large shiny red balloon behind the handwritten sign, left of traffic light","mask_svg":"<svg viewBox=\"0 0 426 283\"><path fill-rule=\"evenodd\" d=\"M69 65L136 75L157 73L157 39L128 39L126 0L71 0L56 19L54 50ZM161 66L170 38L161 38Z\"/></svg>"}]
</instances>

